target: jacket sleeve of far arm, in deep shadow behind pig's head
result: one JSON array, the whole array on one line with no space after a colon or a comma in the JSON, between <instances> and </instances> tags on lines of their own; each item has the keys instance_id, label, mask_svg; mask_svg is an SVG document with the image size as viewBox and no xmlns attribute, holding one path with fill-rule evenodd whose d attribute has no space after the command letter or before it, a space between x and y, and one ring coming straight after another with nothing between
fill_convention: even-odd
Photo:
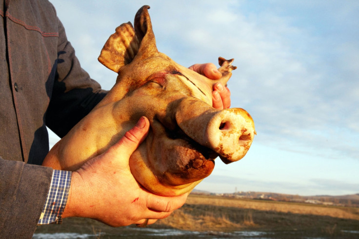
<instances>
[{"instance_id":1,"label":"jacket sleeve of far arm, in deep shadow behind pig's head","mask_svg":"<svg viewBox=\"0 0 359 239\"><path fill-rule=\"evenodd\" d=\"M58 22L57 69L46 125L62 138L103 99L107 91L101 90L100 84L81 68L59 19Z\"/></svg>"}]
</instances>

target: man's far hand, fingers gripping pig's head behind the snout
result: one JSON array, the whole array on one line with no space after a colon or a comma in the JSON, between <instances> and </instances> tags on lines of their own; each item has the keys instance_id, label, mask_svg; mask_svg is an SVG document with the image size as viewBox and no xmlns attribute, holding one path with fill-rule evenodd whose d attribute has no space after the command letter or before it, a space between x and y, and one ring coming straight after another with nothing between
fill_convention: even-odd
<instances>
[{"instance_id":1,"label":"man's far hand, fingers gripping pig's head behind the snout","mask_svg":"<svg viewBox=\"0 0 359 239\"><path fill-rule=\"evenodd\" d=\"M217 70L213 63L194 64L188 68L211 80L218 80L222 77L222 74ZM230 96L231 92L227 87L219 82L216 83L212 91L213 107L220 110L229 108L231 106Z\"/></svg>"}]
</instances>

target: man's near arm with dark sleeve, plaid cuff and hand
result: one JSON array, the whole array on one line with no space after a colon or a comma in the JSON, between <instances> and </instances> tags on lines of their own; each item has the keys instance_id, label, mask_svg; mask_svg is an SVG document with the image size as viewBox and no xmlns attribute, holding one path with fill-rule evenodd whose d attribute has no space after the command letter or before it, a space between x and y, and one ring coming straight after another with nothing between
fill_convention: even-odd
<instances>
[{"instance_id":1,"label":"man's near arm with dark sleeve, plaid cuff and hand","mask_svg":"<svg viewBox=\"0 0 359 239\"><path fill-rule=\"evenodd\" d=\"M65 210L61 215L61 209L55 206L59 210L55 218L86 217L111 226L140 224L149 219L151 224L182 206L187 194L154 195L131 174L128 160L148 130L148 119L142 117L118 143L73 172L67 203L62 203L66 204ZM31 238L44 203L51 200L47 196L51 195L53 169L0 158L0 172L0 238Z\"/></svg>"}]
</instances>

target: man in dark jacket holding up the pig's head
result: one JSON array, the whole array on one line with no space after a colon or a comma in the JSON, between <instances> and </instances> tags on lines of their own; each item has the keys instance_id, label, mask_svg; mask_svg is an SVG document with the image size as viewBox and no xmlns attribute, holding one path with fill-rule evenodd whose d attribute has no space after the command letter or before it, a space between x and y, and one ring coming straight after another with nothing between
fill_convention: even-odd
<instances>
[{"instance_id":1,"label":"man in dark jacket holding up the pig's head","mask_svg":"<svg viewBox=\"0 0 359 239\"><path fill-rule=\"evenodd\" d=\"M1 0L0 15L0 238L31 238L38 224L66 217L151 224L182 206L187 195L151 194L129 170L149 129L144 117L76 172L40 166L49 150L46 126L63 137L106 91L80 67L51 3ZM213 64L190 68L220 78ZM229 107L226 87L215 86L213 105Z\"/></svg>"}]
</instances>

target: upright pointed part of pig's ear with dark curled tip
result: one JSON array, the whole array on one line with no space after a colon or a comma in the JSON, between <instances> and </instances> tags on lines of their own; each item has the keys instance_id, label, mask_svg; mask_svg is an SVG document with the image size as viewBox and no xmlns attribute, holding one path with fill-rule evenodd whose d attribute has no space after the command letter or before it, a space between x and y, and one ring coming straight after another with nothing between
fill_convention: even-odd
<instances>
[{"instance_id":1,"label":"upright pointed part of pig's ear with dark curled tip","mask_svg":"<svg viewBox=\"0 0 359 239\"><path fill-rule=\"evenodd\" d=\"M140 49L136 57L141 59L158 53L148 9L150 9L148 5L141 7L136 13L134 23L136 36L140 40Z\"/></svg>"}]
</instances>

